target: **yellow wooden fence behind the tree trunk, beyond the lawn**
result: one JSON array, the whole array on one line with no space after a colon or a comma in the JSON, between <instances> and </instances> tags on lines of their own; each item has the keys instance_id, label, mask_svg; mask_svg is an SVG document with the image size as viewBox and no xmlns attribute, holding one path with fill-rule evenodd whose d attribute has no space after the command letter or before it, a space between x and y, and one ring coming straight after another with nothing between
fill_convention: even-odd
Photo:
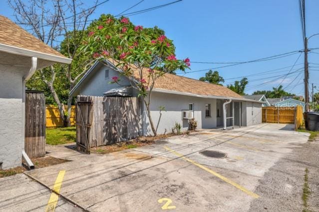
<instances>
[{"instance_id":1,"label":"yellow wooden fence behind the tree trunk, beyond the lawn","mask_svg":"<svg viewBox=\"0 0 319 212\"><path fill-rule=\"evenodd\" d=\"M67 106L64 106L67 111ZM63 120L57 106L46 105L46 127L63 127ZM75 105L72 105L70 114L71 125L75 126Z\"/></svg>"}]
</instances>

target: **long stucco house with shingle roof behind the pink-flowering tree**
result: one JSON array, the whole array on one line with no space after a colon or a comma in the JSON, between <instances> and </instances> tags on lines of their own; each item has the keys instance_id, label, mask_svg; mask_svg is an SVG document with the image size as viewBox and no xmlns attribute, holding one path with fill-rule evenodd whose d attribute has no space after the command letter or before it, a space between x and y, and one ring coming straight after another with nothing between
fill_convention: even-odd
<instances>
[{"instance_id":1,"label":"long stucco house with shingle roof behind the pink-flowering tree","mask_svg":"<svg viewBox=\"0 0 319 212\"><path fill-rule=\"evenodd\" d=\"M111 78L121 79L119 84L109 84ZM109 60L95 62L70 91L72 96L114 95L120 90L129 96L137 96L130 87L130 81L122 76ZM123 92L125 89L125 92ZM109 92L109 91L112 92ZM175 123L180 123L183 130L188 129L188 118L194 117L198 128L222 128L227 126L250 126L262 122L262 101L245 99L227 87L182 77L174 74L165 74L155 82L151 96L151 115L154 123L159 119L159 107L165 106L162 112L158 133L171 132ZM226 109L226 114L223 109ZM151 134L147 112L142 108L143 134ZM234 116L233 116L234 114ZM188 116L188 117L187 117ZM224 117L234 117L234 119ZM232 121L234 120L234 121Z\"/></svg>"}]
</instances>

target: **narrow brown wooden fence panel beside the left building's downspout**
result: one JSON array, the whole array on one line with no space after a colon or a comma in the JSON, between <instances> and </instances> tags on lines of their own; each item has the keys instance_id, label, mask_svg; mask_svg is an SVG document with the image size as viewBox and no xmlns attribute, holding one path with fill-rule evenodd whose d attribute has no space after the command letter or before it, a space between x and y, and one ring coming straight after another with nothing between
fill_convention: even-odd
<instances>
[{"instance_id":1,"label":"narrow brown wooden fence panel beside the left building's downspout","mask_svg":"<svg viewBox=\"0 0 319 212\"><path fill-rule=\"evenodd\" d=\"M25 92L24 151L30 158L45 155L45 97L43 92Z\"/></svg>"}]
</instances>

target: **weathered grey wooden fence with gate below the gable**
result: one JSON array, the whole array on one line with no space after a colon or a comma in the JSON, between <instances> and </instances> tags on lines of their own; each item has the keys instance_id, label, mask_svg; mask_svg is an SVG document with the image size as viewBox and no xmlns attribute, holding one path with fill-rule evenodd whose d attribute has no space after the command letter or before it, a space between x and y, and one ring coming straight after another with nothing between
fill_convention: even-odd
<instances>
[{"instance_id":1,"label":"weathered grey wooden fence with gate below the gable","mask_svg":"<svg viewBox=\"0 0 319 212\"><path fill-rule=\"evenodd\" d=\"M90 147L138 137L140 118L139 99L136 97L77 96L78 150L89 152Z\"/></svg>"}]
</instances>

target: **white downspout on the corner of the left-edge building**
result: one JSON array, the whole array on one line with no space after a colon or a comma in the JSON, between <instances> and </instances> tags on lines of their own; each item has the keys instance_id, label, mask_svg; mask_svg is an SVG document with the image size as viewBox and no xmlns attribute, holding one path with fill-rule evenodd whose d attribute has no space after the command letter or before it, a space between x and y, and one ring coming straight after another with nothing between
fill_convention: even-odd
<instances>
[{"instance_id":1,"label":"white downspout on the corner of the left-edge building","mask_svg":"<svg viewBox=\"0 0 319 212\"><path fill-rule=\"evenodd\" d=\"M31 57L31 67L22 78L22 158L29 169L34 169L34 165L27 154L24 152L24 128L25 128L25 82L34 74L37 66L37 57Z\"/></svg>"}]
</instances>

